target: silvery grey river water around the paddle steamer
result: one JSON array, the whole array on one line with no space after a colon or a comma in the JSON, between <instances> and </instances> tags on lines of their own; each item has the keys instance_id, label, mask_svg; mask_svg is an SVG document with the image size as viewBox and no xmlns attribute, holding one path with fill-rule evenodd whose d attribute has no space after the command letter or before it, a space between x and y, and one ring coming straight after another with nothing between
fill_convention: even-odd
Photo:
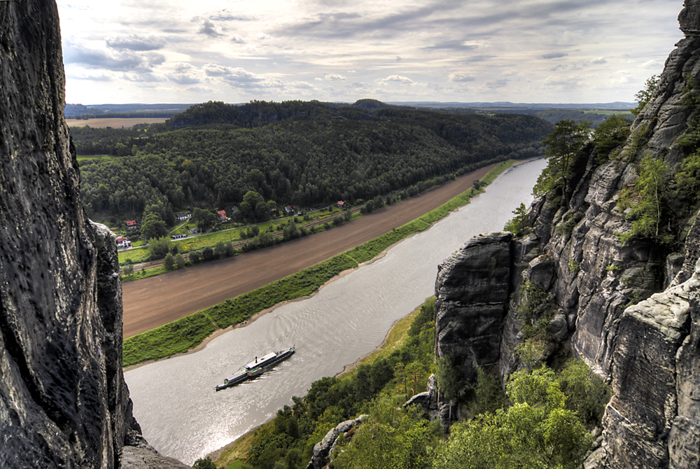
<instances>
[{"instance_id":1,"label":"silvery grey river water around the paddle steamer","mask_svg":"<svg viewBox=\"0 0 700 469\"><path fill-rule=\"evenodd\" d=\"M332 281L306 300L213 339L190 355L125 373L144 437L165 456L187 464L202 458L291 405L311 383L333 376L374 350L394 321L434 294L437 264L466 239L502 230L512 211L532 201L545 160L512 169L486 193L393 246L379 260ZM244 363L296 346L288 360L233 388L214 386Z\"/></svg>"}]
</instances>

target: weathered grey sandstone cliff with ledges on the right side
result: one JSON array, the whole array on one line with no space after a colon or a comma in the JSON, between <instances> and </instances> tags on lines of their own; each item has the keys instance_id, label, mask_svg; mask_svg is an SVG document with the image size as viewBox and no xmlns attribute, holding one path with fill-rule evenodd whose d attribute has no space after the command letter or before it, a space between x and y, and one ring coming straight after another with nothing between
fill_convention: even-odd
<instances>
[{"instance_id":1,"label":"weathered grey sandstone cliff with ledges on the right side","mask_svg":"<svg viewBox=\"0 0 700 469\"><path fill-rule=\"evenodd\" d=\"M436 355L454 358L466 379L477 365L498 365L503 376L522 366L514 351L522 343L515 311L523 299L502 300L504 279L510 278L507 295L523 281L544 291L555 345L542 358L568 351L608 379L615 393L594 458L601 468L700 466L699 223L687 225L682 246L670 255L652 241L622 244L617 237L630 230L617 200L636 181L639 160L663 158L675 171L687 156L679 139L699 112L684 97L688 78L700 83L700 1L686 1L679 21L686 37L668 57L618 158L598 165L587 148L568 207L535 200L531 235L507 246L497 241L501 233L480 237L484 254L474 251L474 267L465 263L465 244L437 276ZM503 260L508 252L510 260ZM483 265L496 259L510 270L480 278ZM491 312L503 309L500 320Z\"/></svg>"}]
</instances>

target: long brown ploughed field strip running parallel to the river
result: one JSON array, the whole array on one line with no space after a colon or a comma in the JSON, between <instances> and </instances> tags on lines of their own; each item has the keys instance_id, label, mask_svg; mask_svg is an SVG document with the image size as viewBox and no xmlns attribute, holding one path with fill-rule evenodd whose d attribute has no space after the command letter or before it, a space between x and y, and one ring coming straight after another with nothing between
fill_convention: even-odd
<instances>
[{"instance_id":1,"label":"long brown ploughed field strip running parallel to the river","mask_svg":"<svg viewBox=\"0 0 700 469\"><path fill-rule=\"evenodd\" d=\"M123 285L124 337L214 306L405 225L468 190L496 165L332 230Z\"/></svg>"}]
</instances>

